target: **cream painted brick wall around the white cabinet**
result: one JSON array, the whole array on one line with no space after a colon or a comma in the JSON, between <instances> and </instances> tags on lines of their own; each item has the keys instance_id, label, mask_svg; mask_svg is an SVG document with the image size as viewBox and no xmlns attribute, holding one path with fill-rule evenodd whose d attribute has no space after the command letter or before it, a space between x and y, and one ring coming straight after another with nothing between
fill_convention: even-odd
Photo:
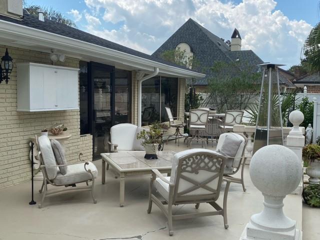
<instances>
[{"instance_id":1,"label":"cream painted brick wall around the white cabinet","mask_svg":"<svg viewBox=\"0 0 320 240\"><path fill-rule=\"evenodd\" d=\"M0 45L0 55L8 48L14 63L36 62L52 64L48 53ZM66 57L56 65L78 67L79 61ZM65 141L68 161L76 161L79 152L83 159L92 159L92 136L80 136L79 110L17 112L16 67L14 65L8 84L0 84L0 187L30 179L29 137L39 134L42 128L54 123L64 123L72 136Z\"/></svg>"}]
</instances>

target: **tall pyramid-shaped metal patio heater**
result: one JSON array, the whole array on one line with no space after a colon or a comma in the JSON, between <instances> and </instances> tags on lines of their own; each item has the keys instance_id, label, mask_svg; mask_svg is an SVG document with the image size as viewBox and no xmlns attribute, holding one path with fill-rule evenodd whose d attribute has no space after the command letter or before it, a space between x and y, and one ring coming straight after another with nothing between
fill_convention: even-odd
<instances>
[{"instance_id":1,"label":"tall pyramid-shaped metal patio heater","mask_svg":"<svg viewBox=\"0 0 320 240\"><path fill-rule=\"evenodd\" d=\"M259 107L256 115L253 153L270 144L283 145L281 98L278 67L282 64L263 63Z\"/></svg>"}]
</instances>

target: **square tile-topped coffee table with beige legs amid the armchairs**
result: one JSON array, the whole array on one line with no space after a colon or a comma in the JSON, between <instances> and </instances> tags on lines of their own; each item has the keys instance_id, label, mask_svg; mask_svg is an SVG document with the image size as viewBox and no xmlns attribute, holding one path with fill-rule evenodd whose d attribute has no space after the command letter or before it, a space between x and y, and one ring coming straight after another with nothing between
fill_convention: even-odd
<instances>
[{"instance_id":1,"label":"square tile-topped coffee table with beige legs amid the armchairs","mask_svg":"<svg viewBox=\"0 0 320 240\"><path fill-rule=\"evenodd\" d=\"M145 151L119 151L101 153L102 156L102 184L105 183L105 163L112 166L120 175L120 206L124 206L124 179L127 175L151 174L152 169L162 173L171 173L171 157L174 151L158 151L158 159L145 159Z\"/></svg>"}]
</instances>

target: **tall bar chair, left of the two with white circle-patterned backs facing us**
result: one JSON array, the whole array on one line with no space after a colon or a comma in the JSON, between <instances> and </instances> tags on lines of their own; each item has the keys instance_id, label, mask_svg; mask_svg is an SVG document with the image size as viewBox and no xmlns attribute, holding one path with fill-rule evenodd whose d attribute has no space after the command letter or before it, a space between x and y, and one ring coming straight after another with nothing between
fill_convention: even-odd
<instances>
[{"instance_id":1,"label":"tall bar chair, left of the two with white circle-patterned backs facing us","mask_svg":"<svg viewBox=\"0 0 320 240\"><path fill-rule=\"evenodd\" d=\"M206 138L200 137L200 131L205 131L208 124L209 111L206 109L191 109L189 115L189 131L192 132L192 137L187 138L187 145L190 146L192 141L201 141L201 146L206 147Z\"/></svg>"}]
</instances>

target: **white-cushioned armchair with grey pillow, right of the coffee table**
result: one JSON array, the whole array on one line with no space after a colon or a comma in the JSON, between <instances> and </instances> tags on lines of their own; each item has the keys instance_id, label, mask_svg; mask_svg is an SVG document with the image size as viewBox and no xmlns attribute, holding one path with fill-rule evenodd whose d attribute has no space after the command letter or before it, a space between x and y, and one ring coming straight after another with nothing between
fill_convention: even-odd
<instances>
[{"instance_id":1,"label":"white-cushioned armchair with grey pillow, right of the coffee table","mask_svg":"<svg viewBox=\"0 0 320 240\"><path fill-rule=\"evenodd\" d=\"M247 138L242 133L226 132L219 136L218 143L216 145L216 152L226 156L224 167L224 178L229 179L231 182L242 184L243 191L245 191L243 181L243 170L245 166L246 157L244 156L244 150L246 147ZM241 177L232 177L241 166Z\"/></svg>"}]
</instances>

